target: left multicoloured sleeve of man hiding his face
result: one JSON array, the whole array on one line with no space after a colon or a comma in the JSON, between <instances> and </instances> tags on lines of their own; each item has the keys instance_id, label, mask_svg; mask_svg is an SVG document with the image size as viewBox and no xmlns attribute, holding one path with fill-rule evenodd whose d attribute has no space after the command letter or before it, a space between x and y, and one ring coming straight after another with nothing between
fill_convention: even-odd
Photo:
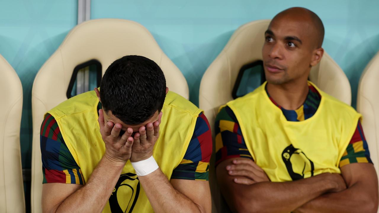
<instances>
[{"instance_id":1,"label":"left multicoloured sleeve of man hiding his face","mask_svg":"<svg viewBox=\"0 0 379 213\"><path fill-rule=\"evenodd\" d=\"M42 183L75 183L84 185L83 175L64 143L55 118L46 114L40 133Z\"/></svg>"}]
</instances>

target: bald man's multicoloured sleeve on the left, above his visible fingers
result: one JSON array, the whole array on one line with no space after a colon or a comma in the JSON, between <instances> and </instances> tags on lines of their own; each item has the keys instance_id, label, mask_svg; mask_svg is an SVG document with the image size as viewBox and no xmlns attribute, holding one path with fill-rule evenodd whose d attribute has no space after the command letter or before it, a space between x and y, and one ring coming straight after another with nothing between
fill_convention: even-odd
<instances>
[{"instance_id":1,"label":"bald man's multicoloured sleeve on the left, above his visible fingers","mask_svg":"<svg viewBox=\"0 0 379 213\"><path fill-rule=\"evenodd\" d=\"M229 158L250 158L240 125L233 111L224 107L216 116L216 166Z\"/></svg>"}]
</instances>

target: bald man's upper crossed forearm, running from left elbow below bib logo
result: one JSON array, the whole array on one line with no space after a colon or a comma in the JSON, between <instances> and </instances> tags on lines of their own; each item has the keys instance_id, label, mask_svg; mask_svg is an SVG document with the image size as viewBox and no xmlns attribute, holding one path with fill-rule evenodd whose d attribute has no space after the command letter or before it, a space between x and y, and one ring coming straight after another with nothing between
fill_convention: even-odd
<instances>
[{"instance_id":1,"label":"bald man's upper crossed forearm, running from left elbow below bib logo","mask_svg":"<svg viewBox=\"0 0 379 213\"><path fill-rule=\"evenodd\" d=\"M237 212L290 212L335 186L329 180L315 177L292 182L260 182L252 185L233 183L230 202ZM230 192L224 191L225 194ZM237 194L238 193L238 194Z\"/></svg>"}]
</instances>

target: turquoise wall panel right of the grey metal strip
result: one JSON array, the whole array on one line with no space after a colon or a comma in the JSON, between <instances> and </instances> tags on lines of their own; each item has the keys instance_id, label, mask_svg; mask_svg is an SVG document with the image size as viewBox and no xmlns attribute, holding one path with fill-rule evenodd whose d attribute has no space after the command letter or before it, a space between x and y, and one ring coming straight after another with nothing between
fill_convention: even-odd
<instances>
[{"instance_id":1,"label":"turquoise wall panel right of the grey metal strip","mask_svg":"<svg viewBox=\"0 0 379 213\"><path fill-rule=\"evenodd\" d=\"M360 74L379 50L377 0L93 0L91 19L129 19L144 25L183 72L190 100L198 104L201 77L233 31L293 6L311 9L323 20L323 47L349 78L355 106Z\"/></svg>"}]
</instances>

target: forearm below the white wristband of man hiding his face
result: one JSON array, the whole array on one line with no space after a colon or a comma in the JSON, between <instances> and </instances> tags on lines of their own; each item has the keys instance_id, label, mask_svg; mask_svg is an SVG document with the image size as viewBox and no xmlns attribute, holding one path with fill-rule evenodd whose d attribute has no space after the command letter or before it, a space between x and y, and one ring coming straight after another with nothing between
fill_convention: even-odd
<instances>
[{"instance_id":1,"label":"forearm below the white wristband of man hiding his face","mask_svg":"<svg viewBox=\"0 0 379 213\"><path fill-rule=\"evenodd\" d=\"M138 176L138 179L155 212L204 212L191 199L175 190L160 169Z\"/></svg>"}]
</instances>

